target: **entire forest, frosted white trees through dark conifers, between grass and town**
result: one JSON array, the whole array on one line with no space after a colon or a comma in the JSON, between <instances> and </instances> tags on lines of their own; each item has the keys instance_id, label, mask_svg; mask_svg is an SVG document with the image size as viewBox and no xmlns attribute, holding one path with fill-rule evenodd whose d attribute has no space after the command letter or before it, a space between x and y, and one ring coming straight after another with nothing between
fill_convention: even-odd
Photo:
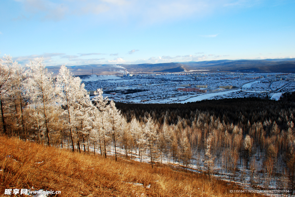
<instances>
[{"instance_id":1,"label":"entire forest, frosted white trees through dark conifers, between grass and town","mask_svg":"<svg viewBox=\"0 0 295 197\"><path fill-rule=\"evenodd\" d=\"M242 184L294 192L295 92L268 98L185 104L90 99L79 77L42 58L27 67L0 59L1 134L116 160L184 170Z\"/></svg>"}]
</instances>

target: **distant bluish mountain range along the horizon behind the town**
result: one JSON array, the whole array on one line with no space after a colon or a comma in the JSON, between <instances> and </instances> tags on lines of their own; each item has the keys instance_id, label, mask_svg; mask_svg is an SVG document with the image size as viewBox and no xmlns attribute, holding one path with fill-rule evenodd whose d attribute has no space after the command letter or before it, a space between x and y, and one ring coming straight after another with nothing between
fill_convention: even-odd
<instances>
[{"instance_id":1,"label":"distant bluish mountain range along the horizon behind the town","mask_svg":"<svg viewBox=\"0 0 295 197\"><path fill-rule=\"evenodd\" d=\"M49 71L58 73L60 66L48 66ZM295 73L295 58L263 60L212 60L202 62L171 62L161 64L89 64L68 66L74 75L111 75L151 72L291 72Z\"/></svg>"}]
</instances>

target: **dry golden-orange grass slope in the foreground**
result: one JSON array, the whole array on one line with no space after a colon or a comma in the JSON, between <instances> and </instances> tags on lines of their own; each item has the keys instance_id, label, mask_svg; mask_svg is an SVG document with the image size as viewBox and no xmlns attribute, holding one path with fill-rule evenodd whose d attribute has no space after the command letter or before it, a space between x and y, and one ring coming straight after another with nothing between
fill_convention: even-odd
<instances>
[{"instance_id":1,"label":"dry golden-orange grass slope in the foreground","mask_svg":"<svg viewBox=\"0 0 295 197\"><path fill-rule=\"evenodd\" d=\"M116 162L4 136L0 136L0 169L0 196L5 188L32 186L61 191L57 196L259 196L229 194L234 186L214 181L212 187L202 175L168 166L151 168L122 158Z\"/></svg>"}]
</instances>

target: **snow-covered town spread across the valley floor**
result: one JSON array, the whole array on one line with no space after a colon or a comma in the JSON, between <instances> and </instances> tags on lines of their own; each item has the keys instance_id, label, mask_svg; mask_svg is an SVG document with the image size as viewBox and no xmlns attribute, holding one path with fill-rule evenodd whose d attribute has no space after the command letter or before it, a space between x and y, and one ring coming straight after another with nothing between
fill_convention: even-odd
<instances>
[{"instance_id":1,"label":"snow-covered town spread across the valley floor","mask_svg":"<svg viewBox=\"0 0 295 197\"><path fill-rule=\"evenodd\" d=\"M295 91L293 73L162 73L89 75L90 95L102 88L110 100L125 103L186 103L206 99L266 97L278 100Z\"/></svg>"}]
</instances>

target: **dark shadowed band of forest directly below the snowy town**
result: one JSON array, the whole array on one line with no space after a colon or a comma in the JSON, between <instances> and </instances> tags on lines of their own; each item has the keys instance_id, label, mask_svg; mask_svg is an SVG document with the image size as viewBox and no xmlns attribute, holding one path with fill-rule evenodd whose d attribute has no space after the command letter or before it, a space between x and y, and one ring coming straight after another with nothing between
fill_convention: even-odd
<instances>
[{"instance_id":1,"label":"dark shadowed band of forest directly below the snowy town","mask_svg":"<svg viewBox=\"0 0 295 197\"><path fill-rule=\"evenodd\" d=\"M153 120L159 122L160 125L165 117L169 125L177 124L179 119L185 119L187 125L191 125L203 113L208 118L212 115L216 118L219 117L220 122L224 121L225 124L247 125L248 120L251 125L254 122L276 121L281 129L287 129L289 119L286 119L286 116L294 114L295 92L284 93L279 101L250 97L203 100L185 104L126 104L118 102L116 106L127 118L127 121L130 121L132 117L143 120L150 114ZM293 117L292 121L294 122L294 120Z\"/></svg>"}]
</instances>

